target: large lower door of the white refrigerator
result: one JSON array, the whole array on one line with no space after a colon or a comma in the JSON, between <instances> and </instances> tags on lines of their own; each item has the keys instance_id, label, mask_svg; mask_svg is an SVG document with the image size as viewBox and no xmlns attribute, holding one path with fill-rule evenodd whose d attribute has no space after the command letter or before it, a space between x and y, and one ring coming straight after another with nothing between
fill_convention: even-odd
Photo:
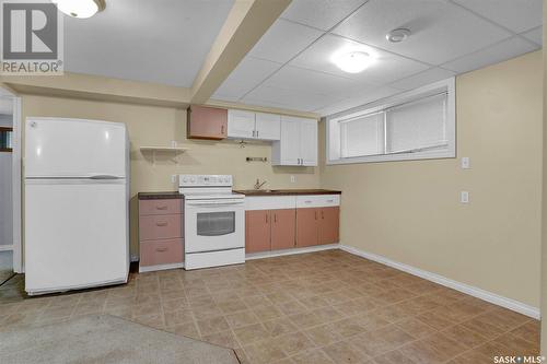
<instances>
[{"instance_id":1,"label":"large lower door of the white refrigerator","mask_svg":"<svg viewBox=\"0 0 547 364\"><path fill-rule=\"evenodd\" d=\"M125 180L27 180L25 290L126 282L127 226Z\"/></svg>"}]
</instances>

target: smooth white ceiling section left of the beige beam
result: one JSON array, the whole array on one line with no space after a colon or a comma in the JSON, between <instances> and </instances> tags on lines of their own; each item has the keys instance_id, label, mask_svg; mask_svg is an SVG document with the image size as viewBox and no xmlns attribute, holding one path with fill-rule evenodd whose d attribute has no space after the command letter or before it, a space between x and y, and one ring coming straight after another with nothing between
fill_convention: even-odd
<instances>
[{"instance_id":1,"label":"smooth white ceiling section left of the beige beam","mask_svg":"<svg viewBox=\"0 0 547 364\"><path fill-rule=\"evenodd\" d=\"M65 16L65 70L189 87L234 0L115 0Z\"/></svg>"}]
</instances>

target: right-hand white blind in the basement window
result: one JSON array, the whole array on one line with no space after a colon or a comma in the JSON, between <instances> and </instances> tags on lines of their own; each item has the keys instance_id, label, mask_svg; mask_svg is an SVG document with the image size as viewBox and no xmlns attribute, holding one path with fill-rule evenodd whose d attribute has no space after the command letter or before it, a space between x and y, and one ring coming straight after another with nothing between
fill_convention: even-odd
<instances>
[{"instance_id":1,"label":"right-hand white blind in the basement window","mask_svg":"<svg viewBox=\"0 0 547 364\"><path fill-rule=\"evenodd\" d=\"M446 94L386 110L386 153L408 153L446 146Z\"/></svg>"}]
</instances>

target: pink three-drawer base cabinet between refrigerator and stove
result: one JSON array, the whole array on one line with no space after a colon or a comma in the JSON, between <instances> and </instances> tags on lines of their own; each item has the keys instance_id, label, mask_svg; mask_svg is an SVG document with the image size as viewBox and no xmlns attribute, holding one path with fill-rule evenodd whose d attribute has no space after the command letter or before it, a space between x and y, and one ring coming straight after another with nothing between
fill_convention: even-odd
<instances>
[{"instance_id":1,"label":"pink three-drawer base cabinet between refrigerator and stove","mask_svg":"<svg viewBox=\"0 0 547 364\"><path fill-rule=\"evenodd\" d=\"M183 200L177 193L139 193L139 271L183 268Z\"/></svg>"}]
</instances>

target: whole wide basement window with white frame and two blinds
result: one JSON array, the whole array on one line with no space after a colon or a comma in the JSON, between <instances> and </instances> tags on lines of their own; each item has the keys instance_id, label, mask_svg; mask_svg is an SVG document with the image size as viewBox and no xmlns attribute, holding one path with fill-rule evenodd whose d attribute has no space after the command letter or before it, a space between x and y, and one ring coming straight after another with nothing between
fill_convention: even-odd
<instances>
[{"instance_id":1,"label":"whole wide basement window with white frame and two blinds","mask_svg":"<svg viewBox=\"0 0 547 364\"><path fill-rule=\"evenodd\" d=\"M327 164L455 157L454 79L326 119Z\"/></svg>"}]
</instances>

